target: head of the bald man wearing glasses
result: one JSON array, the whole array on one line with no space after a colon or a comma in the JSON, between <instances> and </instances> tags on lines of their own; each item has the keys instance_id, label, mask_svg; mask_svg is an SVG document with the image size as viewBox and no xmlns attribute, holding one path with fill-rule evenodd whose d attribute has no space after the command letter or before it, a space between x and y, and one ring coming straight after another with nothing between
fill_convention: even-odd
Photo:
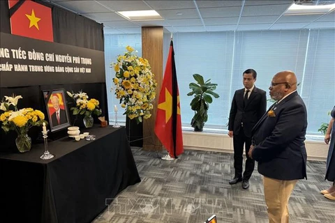
<instances>
[{"instance_id":1,"label":"head of the bald man wearing glasses","mask_svg":"<svg viewBox=\"0 0 335 223\"><path fill-rule=\"evenodd\" d=\"M269 90L271 98L274 100L281 100L285 95L297 90L297 77L295 73L290 70L276 73L272 78Z\"/></svg>"}]
</instances>

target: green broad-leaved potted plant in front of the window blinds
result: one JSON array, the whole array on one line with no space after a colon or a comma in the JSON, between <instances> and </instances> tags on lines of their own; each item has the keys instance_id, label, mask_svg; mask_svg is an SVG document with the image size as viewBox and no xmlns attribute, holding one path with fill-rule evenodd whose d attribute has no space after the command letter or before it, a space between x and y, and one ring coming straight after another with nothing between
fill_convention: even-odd
<instances>
[{"instance_id":1,"label":"green broad-leaved potted plant in front of the window blinds","mask_svg":"<svg viewBox=\"0 0 335 223\"><path fill-rule=\"evenodd\" d=\"M211 98L211 96L214 98L218 98L220 96L214 92L218 84L212 84L210 82L211 79L204 82L204 77L199 74L194 74L193 78L197 83L192 82L189 84L192 91L187 94L188 96L194 95L190 104L191 109L194 111L191 125L195 131L201 132L204 128L204 123L207 122L209 104L213 102L213 98Z\"/></svg>"}]
</instances>

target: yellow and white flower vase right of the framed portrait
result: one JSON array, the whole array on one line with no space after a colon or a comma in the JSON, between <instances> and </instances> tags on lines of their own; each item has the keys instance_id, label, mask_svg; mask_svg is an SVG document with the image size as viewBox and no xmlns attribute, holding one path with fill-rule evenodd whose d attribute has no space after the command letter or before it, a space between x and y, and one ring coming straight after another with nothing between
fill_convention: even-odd
<instances>
[{"instance_id":1,"label":"yellow and white flower vase right of the framed portrait","mask_svg":"<svg viewBox=\"0 0 335 223\"><path fill-rule=\"evenodd\" d=\"M83 121L85 127L91 128L94 121L92 114L95 114L96 116L101 115L99 101L94 98L89 100L87 93L82 91L79 93L70 93L69 91L66 91L66 93L75 101L75 107L70 108L70 110L73 111L73 115L84 115Z\"/></svg>"}]
</instances>

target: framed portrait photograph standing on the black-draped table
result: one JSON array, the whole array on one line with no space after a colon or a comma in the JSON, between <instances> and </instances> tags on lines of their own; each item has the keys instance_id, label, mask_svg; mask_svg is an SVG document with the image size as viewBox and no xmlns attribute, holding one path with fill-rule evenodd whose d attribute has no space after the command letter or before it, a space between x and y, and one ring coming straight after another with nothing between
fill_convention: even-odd
<instances>
[{"instance_id":1,"label":"framed portrait photograph standing on the black-draped table","mask_svg":"<svg viewBox=\"0 0 335 223\"><path fill-rule=\"evenodd\" d=\"M43 91L50 131L62 130L70 126L70 116L66 105L64 89Z\"/></svg>"}]
</instances>

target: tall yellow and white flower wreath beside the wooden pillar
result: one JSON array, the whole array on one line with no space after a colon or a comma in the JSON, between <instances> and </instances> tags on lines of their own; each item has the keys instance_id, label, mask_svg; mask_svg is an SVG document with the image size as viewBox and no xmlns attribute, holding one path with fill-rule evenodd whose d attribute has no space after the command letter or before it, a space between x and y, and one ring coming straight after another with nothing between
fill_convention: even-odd
<instances>
[{"instance_id":1,"label":"tall yellow and white flower wreath beside the wooden pillar","mask_svg":"<svg viewBox=\"0 0 335 223\"><path fill-rule=\"evenodd\" d=\"M130 46L126 50L124 55L117 56L117 63L111 64L115 70L115 95L126 109L124 114L140 123L142 117L151 117L157 84L147 59L138 57Z\"/></svg>"}]
</instances>

